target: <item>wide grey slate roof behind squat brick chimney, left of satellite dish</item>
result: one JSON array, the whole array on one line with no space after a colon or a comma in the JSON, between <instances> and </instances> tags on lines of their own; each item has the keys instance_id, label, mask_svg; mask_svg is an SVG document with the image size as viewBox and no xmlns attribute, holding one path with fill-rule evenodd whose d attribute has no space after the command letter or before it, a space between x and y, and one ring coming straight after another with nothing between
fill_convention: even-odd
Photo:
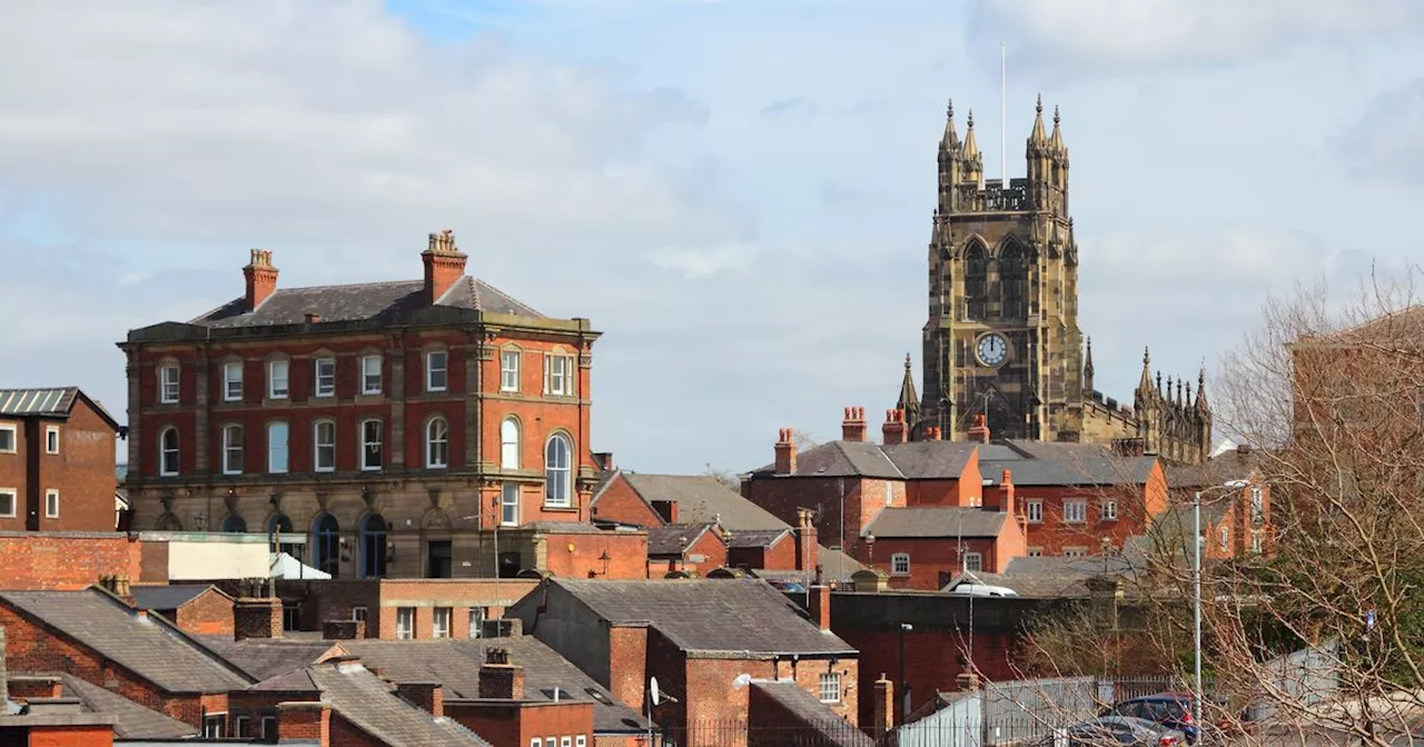
<instances>
[{"instance_id":1,"label":"wide grey slate roof behind squat brick chimney, left of satellite dish","mask_svg":"<svg viewBox=\"0 0 1424 747\"><path fill-rule=\"evenodd\" d=\"M619 701L607 687L534 636L473 640L365 639L342 643L380 677L392 682L439 682L446 699L478 697L484 649L487 646L508 649L510 662L524 667L525 700L553 700L553 689L558 687L560 700L572 697L594 701L597 733L646 730L646 720L637 709Z\"/></svg>"}]
</instances>

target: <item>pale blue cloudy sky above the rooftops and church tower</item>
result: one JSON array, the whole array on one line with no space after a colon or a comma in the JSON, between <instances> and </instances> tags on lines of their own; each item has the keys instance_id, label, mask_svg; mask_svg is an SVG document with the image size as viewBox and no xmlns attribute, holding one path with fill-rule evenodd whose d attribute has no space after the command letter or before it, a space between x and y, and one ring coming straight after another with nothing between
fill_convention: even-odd
<instances>
[{"instance_id":1,"label":"pale blue cloudy sky above the rooftops and church tower","mask_svg":"<svg viewBox=\"0 0 1424 747\"><path fill-rule=\"evenodd\" d=\"M122 420L114 343L239 296L248 249L416 279L451 228L604 333L594 450L750 470L918 376L946 102L1021 176L1042 94L1126 398L1143 346L1212 371L1267 295L1418 260L1421 41L1424 0L13 0L0 387Z\"/></svg>"}]
</instances>

